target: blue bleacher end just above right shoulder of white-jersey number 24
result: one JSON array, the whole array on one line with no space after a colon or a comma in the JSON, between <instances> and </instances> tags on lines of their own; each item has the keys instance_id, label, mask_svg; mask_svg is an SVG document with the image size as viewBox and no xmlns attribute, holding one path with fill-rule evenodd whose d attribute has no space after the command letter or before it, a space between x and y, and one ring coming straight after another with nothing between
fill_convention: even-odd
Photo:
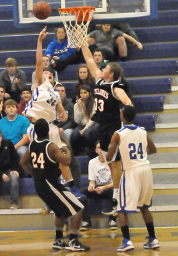
<instances>
[{"instance_id":1,"label":"blue bleacher end just above right shoulder of white-jersey number 24","mask_svg":"<svg viewBox=\"0 0 178 256\"><path fill-rule=\"evenodd\" d=\"M157 118L158 116L156 114L137 114L134 124L145 127L146 130L155 130Z\"/></svg>"}]
</instances>

